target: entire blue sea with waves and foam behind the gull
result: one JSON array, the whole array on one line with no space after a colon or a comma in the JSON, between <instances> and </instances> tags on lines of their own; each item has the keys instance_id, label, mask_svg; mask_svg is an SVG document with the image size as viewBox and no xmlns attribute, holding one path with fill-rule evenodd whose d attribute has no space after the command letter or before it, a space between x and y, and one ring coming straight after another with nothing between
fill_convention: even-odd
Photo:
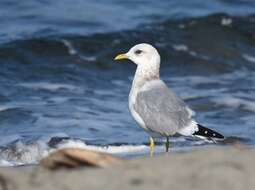
<instances>
[{"instance_id":1,"label":"entire blue sea with waves and foam behind the gull","mask_svg":"<svg viewBox=\"0 0 255 190\"><path fill-rule=\"evenodd\" d=\"M61 147L148 152L127 106L135 66L113 61L140 42L159 49L162 78L199 122L255 144L254 1L4 0L0 16L0 165Z\"/></svg>"}]
</instances>

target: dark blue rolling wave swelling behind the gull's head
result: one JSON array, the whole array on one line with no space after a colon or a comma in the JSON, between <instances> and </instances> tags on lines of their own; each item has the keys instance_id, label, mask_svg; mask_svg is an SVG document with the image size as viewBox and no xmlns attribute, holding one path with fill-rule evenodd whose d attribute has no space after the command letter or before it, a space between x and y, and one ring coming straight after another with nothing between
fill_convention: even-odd
<instances>
[{"instance_id":1,"label":"dark blue rolling wave swelling behind the gull's head","mask_svg":"<svg viewBox=\"0 0 255 190\"><path fill-rule=\"evenodd\" d=\"M233 64L239 51L233 50L231 46L232 37L229 38L229 36L235 36L234 38L240 47L247 47L247 51L242 49L243 52L240 57L248 62L254 62L253 56L249 53L252 52L252 46L247 44L249 39L250 41L253 39L253 20L254 16L252 15L233 17L226 14L214 14L206 17L170 19L145 25L149 28L141 27L90 36L31 37L30 39L1 44L0 61L5 62L9 57L12 57L14 62L20 62L22 58L22 61L26 60L24 62L26 64L40 63L40 60L48 60L49 62L57 60L57 62L69 66L70 63L77 63L78 65L75 66L78 67L87 65L98 68L113 68L117 67L111 65L112 57L116 54L117 49L118 51L122 49L126 51L128 44L131 46L138 42L149 42L158 44L166 63L175 62L179 56L182 56L183 60L189 60L190 65L194 66L203 62L207 69L228 72L238 66L238 64ZM185 28L179 28L180 24ZM226 30L226 26L231 27ZM208 42L207 36L214 33L217 33L214 41ZM193 37L190 39L188 36ZM203 46L203 49L197 44ZM45 64L47 65L47 63ZM243 66L253 67L249 64Z\"/></svg>"}]
</instances>

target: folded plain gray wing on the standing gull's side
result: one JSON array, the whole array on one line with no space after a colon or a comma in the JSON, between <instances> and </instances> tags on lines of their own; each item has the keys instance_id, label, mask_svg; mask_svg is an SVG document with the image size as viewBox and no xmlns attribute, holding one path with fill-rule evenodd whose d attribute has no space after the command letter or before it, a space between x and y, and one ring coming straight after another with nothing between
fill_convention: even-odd
<instances>
[{"instance_id":1,"label":"folded plain gray wing on the standing gull's side","mask_svg":"<svg viewBox=\"0 0 255 190\"><path fill-rule=\"evenodd\" d=\"M147 82L138 92L135 111L152 132L169 136L191 122L187 105L161 80Z\"/></svg>"}]
</instances>

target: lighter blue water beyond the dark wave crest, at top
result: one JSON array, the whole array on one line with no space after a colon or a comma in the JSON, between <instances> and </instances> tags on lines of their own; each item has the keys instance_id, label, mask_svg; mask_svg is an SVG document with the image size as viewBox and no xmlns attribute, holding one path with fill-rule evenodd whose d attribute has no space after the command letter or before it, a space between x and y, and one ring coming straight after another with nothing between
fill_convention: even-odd
<instances>
[{"instance_id":1,"label":"lighter blue water beyond the dark wave crest, at top","mask_svg":"<svg viewBox=\"0 0 255 190\"><path fill-rule=\"evenodd\" d=\"M13 0L13 2L15 1L17 0ZM133 9L134 6L136 9ZM147 3L138 1L134 5L133 1L104 3L104 1L74 0L70 4L64 0L59 4L47 0L44 3L24 2L22 6L24 10L17 11L20 8L18 1L11 4L1 2L0 11L5 17L1 22L0 42L24 39L30 36L90 35L132 30L145 23L159 22L169 18L171 20L197 18L216 13L247 16L255 13L253 7L253 1L231 1L230 3L223 0L190 0L189 2L169 2L167 0L154 2L150 0ZM128 11L126 11L127 9ZM98 12L101 14L97 14ZM229 26L233 22L231 18L225 16L221 23L224 26ZM10 26L19 27L16 29Z\"/></svg>"}]
</instances>

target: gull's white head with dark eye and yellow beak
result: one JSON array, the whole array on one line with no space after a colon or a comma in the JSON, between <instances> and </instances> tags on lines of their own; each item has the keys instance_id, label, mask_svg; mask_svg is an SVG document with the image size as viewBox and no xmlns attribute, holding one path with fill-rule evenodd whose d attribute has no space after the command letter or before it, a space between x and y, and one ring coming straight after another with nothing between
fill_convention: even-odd
<instances>
[{"instance_id":1,"label":"gull's white head with dark eye and yellow beak","mask_svg":"<svg viewBox=\"0 0 255 190\"><path fill-rule=\"evenodd\" d=\"M150 44L137 44L127 53L117 55L114 60L122 59L129 59L134 62L138 66L138 73L140 74L159 76L160 55L156 48Z\"/></svg>"}]
</instances>

